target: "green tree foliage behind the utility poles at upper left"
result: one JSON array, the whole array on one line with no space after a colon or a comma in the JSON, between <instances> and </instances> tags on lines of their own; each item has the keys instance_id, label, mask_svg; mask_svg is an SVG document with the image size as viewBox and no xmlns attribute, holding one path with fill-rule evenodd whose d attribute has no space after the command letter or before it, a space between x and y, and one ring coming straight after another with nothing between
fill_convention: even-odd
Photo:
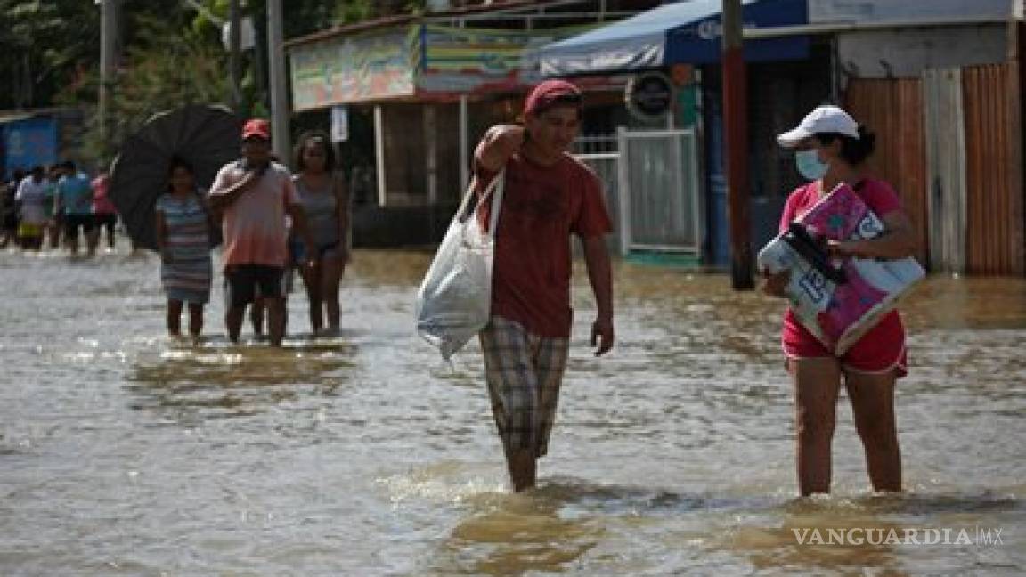
<instances>
[{"instance_id":1,"label":"green tree foliage behind the utility poles at upper left","mask_svg":"<svg viewBox=\"0 0 1026 577\"><path fill-rule=\"evenodd\" d=\"M91 0L0 0L0 110L54 105L86 113L86 157L105 157L152 114L188 103L227 103L228 53L221 26L229 0L117 1L120 54L112 89L112 140L100 140L101 7ZM266 45L266 0L239 0ZM425 9L424 0L283 0L285 38L371 17ZM266 114L266 50L242 55L239 109Z\"/></svg>"}]
</instances>

